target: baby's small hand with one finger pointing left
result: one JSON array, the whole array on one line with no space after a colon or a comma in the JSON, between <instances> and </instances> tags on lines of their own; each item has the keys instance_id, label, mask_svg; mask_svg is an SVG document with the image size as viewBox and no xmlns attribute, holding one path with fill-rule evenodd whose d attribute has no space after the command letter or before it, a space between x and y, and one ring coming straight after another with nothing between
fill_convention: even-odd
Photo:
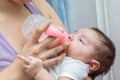
<instances>
[{"instance_id":1,"label":"baby's small hand with one finger pointing left","mask_svg":"<svg viewBox=\"0 0 120 80\"><path fill-rule=\"evenodd\" d=\"M17 57L25 62L23 69L32 78L34 78L35 75L43 68L43 61L38 58L32 56L24 57L21 55L18 55Z\"/></svg>"}]
</instances>

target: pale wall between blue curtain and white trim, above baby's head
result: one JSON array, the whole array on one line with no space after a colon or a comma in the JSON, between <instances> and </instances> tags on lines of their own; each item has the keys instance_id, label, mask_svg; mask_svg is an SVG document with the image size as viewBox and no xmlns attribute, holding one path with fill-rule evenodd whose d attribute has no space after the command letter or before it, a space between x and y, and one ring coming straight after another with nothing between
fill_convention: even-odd
<instances>
[{"instance_id":1,"label":"pale wall between blue curtain and white trim, above baby's head","mask_svg":"<svg viewBox=\"0 0 120 80\"><path fill-rule=\"evenodd\" d=\"M97 26L95 0L67 0L66 10L71 32L79 27Z\"/></svg>"}]
</instances>

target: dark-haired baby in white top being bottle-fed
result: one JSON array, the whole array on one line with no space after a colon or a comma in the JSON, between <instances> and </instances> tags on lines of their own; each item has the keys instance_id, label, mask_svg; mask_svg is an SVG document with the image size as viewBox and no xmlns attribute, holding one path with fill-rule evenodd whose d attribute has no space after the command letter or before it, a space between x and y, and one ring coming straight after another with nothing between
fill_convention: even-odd
<instances>
[{"instance_id":1,"label":"dark-haired baby in white top being bottle-fed","mask_svg":"<svg viewBox=\"0 0 120 80\"><path fill-rule=\"evenodd\" d=\"M84 80L107 73L115 59L112 41L97 28L81 28L68 36L66 57L57 65L45 69L43 61L18 56L25 72L35 80Z\"/></svg>"}]
</instances>

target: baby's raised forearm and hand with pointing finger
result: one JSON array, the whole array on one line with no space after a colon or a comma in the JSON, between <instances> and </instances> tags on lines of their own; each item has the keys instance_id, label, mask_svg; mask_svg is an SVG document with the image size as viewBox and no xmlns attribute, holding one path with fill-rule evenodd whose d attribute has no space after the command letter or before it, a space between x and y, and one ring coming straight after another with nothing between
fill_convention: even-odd
<instances>
[{"instance_id":1,"label":"baby's raised forearm and hand with pointing finger","mask_svg":"<svg viewBox=\"0 0 120 80\"><path fill-rule=\"evenodd\" d=\"M35 80L54 80L50 73L43 67L43 61L35 57L17 56L24 61L24 71Z\"/></svg>"}]
</instances>

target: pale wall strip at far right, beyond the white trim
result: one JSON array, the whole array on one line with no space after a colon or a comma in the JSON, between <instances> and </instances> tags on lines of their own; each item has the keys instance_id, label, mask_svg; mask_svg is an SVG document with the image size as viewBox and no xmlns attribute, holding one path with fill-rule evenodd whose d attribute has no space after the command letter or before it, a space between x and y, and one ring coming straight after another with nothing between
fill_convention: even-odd
<instances>
[{"instance_id":1,"label":"pale wall strip at far right, beyond the white trim","mask_svg":"<svg viewBox=\"0 0 120 80\"><path fill-rule=\"evenodd\" d=\"M107 0L110 37L114 40L117 52L113 66L113 80L120 79L120 0Z\"/></svg>"}]
</instances>

